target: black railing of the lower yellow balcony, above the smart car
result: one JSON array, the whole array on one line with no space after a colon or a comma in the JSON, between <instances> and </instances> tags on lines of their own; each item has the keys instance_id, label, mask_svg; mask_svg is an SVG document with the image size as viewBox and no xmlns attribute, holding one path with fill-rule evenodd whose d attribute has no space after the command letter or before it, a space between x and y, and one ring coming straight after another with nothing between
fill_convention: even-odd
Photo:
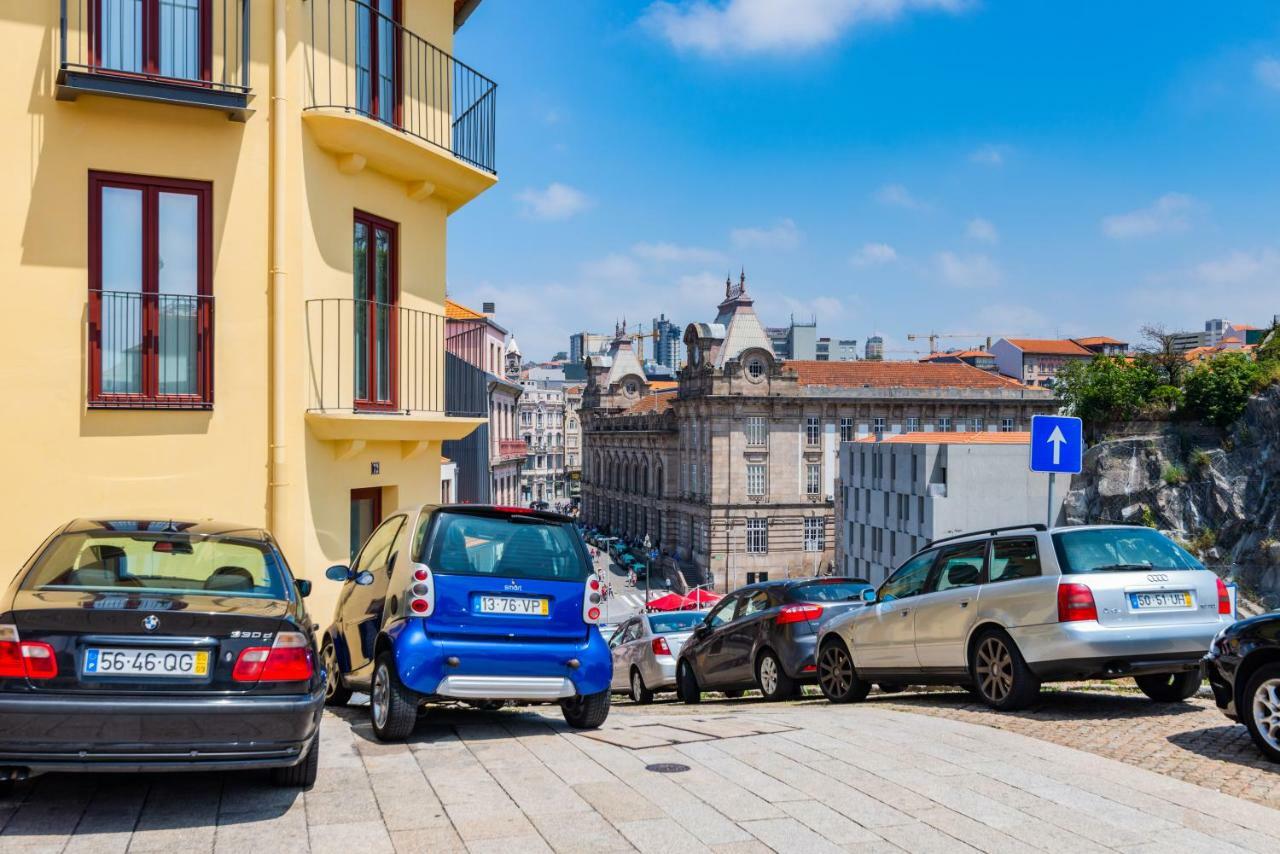
<instances>
[{"instance_id":1,"label":"black railing of the lower yellow balcony, above the smart car","mask_svg":"<svg viewBox=\"0 0 1280 854\"><path fill-rule=\"evenodd\" d=\"M371 300L306 301L307 410L444 411L444 315Z\"/></svg>"}]
</instances>

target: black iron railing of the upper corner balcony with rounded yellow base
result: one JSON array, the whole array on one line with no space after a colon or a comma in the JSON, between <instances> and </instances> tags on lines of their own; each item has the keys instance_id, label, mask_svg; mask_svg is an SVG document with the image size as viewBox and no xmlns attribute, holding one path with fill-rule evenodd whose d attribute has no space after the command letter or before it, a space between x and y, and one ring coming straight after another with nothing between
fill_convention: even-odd
<instances>
[{"instance_id":1,"label":"black iron railing of the upper corner balcony with rounded yellow base","mask_svg":"<svg viewBox=\"0 0 1280 854\"><path fill-rule=\"evenodd\" d=\"M306 109L358 113L497 172L497 83L406 29L392 0L306 3Z\"/></svg>"}]
</instances>

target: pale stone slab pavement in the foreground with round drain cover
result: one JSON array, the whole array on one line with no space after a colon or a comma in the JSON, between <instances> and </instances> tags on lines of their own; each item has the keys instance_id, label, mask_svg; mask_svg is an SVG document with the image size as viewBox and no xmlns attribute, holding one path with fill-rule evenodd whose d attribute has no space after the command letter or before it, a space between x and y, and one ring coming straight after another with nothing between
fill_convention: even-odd
<instances>
[{"instance_id":1,"label":"pale stone slab pavement in the foreground with round drain cover","mask_svg":"<svg viewBox=\"0 0 1280 854\"><path fill-rule=\"evenodd\" d=\"M553 709L433 709L385 745L357 707L325 716L311 791L51 775L0 800L0 851L1280 849L1280 810L920 711L621 704L584 735Z\"/></svg>"}]
</instances>

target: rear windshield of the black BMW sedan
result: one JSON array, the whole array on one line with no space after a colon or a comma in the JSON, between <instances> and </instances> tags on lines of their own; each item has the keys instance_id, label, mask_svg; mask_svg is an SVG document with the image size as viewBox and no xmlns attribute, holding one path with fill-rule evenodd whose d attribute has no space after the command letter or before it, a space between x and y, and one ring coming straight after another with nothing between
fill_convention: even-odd
<instances>
[{"instance_id":1,"label":"rear windshield of the black BMW sedan","mask_svg":"<svg viewBox=\"0 0 1280 854\"><path fill-rule=\"evenodd\" d=\"M22 588L287 598L266 545L174 533L60 534Z\"/></svg>"}]
</instances>

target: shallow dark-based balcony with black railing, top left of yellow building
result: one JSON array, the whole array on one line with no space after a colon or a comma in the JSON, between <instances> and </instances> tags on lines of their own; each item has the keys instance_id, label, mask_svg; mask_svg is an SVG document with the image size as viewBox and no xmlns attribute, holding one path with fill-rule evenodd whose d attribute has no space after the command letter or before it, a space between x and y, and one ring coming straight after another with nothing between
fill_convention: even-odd
<instances>
[{"instance_id":1,"label":"shallow dark-based balcony with black railing, top left of yellow building","mask_svg":"<svg viewBox=\"0 0 1280 854\"><path fill-rule=\"evenodd\" d=\"M250 0L60 0L56 95L223 110L250 99Z\"/></svg>"}]
</instances>

